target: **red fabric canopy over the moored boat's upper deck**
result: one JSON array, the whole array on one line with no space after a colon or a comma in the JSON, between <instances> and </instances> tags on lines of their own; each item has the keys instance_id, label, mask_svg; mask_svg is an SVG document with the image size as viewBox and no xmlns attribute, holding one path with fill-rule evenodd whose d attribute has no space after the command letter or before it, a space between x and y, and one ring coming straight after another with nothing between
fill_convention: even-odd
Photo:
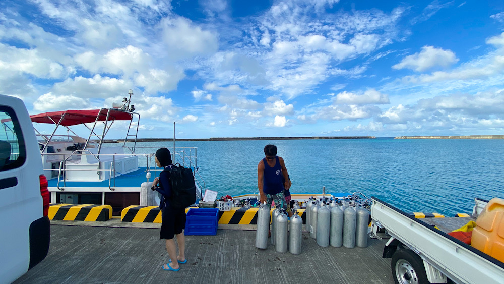
<instances>
[{"instance_id":1,"label":"red fabric canopy over the moored boat's upper deck","mask_svg":"<svg viewBox=\"0 0 504 284\"><path fill-rule=\"evenodd\" d=\"M84 123L92 123L96 121L96 117L99 115L98 121L105 121L107 118L108 108L104 109L89 109L89 110L65 110L65 111L53 111L40 113L39 115L30 116L32 122L38 123L58 123L62 116L64 116L61 121L62 126L72 126ZM51 120L52 119L52 120ZM114 108L110 108L110 115L108 120L131 120L131 113L120 111ZM54 122L53 122L54 121Z\"/></svg>"}]
</instances>

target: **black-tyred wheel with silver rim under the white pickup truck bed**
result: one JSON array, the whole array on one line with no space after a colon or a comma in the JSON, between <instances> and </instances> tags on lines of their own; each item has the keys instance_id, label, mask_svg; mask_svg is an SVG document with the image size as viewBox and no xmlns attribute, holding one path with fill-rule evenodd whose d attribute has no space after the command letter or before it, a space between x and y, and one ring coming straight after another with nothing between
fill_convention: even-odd
<instances>
[{"instance_id":1,"label":"black-tyred wheel with silver rim under the white pickup truck bed","mask_svg":"<svg viewBox=\"0 0 504 284\"><path fill-rule=\"evenodd\" d=\"M392 256L390 266L396 284L430 283L423 260L411 250L397 250Z\"/></svg>"}]
</instances>

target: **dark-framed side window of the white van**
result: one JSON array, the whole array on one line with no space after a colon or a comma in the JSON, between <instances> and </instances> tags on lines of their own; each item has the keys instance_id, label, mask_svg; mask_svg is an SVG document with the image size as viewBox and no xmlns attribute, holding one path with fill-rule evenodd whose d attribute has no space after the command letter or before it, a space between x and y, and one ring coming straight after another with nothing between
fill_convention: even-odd
<instances>
[{"instance_id":1,"label":"dark-framed side window of the white van","mask_svg":"<svg viewBox=\"0 0 504 284\"><path fill-rule=\"evenodd\" d=\"M0 172L20 167L26 160L25 142L16 113L0 105Z\"/></svg>"}]
</instances>

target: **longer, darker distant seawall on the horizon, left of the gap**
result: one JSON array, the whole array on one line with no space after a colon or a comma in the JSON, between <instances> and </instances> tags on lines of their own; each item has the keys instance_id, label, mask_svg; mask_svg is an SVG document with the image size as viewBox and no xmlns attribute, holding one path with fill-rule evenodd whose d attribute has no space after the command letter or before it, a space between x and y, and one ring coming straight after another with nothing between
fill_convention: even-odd
<instances>
[{"instance_id":1,"label":"longer, darker distant seawall on the horizon, left of the gap","mask_svg":"<svg viewBox=\"0 0 504 284\"><path fill-rule=\"evenodd\" d=\"M311 137L212 137L212 138L175 138L175 141L234 141L234 140L308 140L308 139L375 139L374 136L311 136ZM128 139L128 141L133 141ZM173 138L139 138L137 142L173 141ZM124 142L117 140L115 142Z\"/></svg>"}]
</instances>

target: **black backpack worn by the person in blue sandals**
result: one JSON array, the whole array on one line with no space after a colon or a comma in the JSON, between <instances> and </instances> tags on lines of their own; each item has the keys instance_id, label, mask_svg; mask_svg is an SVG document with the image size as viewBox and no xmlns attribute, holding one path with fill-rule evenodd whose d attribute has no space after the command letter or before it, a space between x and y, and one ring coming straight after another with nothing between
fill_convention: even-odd
<instances>
[{"instance_id":1,"label":"black backpack worn by the person in blue sandals","mask_svg":"<svg viewBox=\"0 0 504 284\"><path fill-rule=\"evenodd\" d=\"M190 168L176 163L171 169L166 168L170 174L171 206L175 208L186 208L196 202L196 184L194 182L193 171Z\"/></svg>"}]
</instances>

